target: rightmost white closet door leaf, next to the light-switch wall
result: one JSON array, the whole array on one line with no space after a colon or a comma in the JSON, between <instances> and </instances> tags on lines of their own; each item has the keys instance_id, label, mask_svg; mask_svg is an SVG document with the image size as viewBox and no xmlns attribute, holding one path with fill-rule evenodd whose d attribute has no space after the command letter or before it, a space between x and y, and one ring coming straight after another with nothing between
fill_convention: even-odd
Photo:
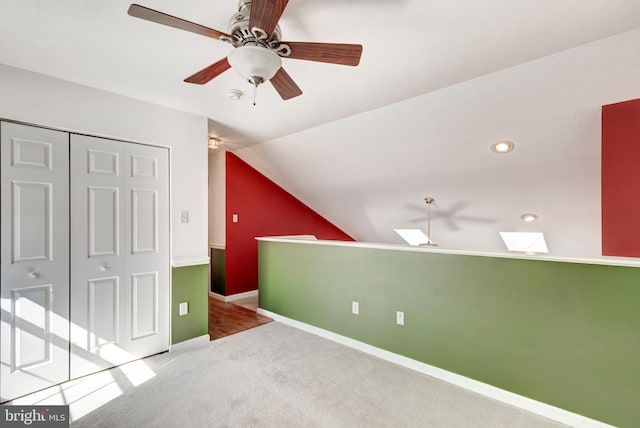
<instances>
[{"instance_id":1,"label":"rightmost white closet door leaf, next to the light-switch wall","mask_svg":"<svg viewBox=\"0 0 640 428\"><path fill-rule=\"evenodd\" d=\"M150 355L169 349L169 151L125 147L126 349Z\"/></svg>"}]
</instances>

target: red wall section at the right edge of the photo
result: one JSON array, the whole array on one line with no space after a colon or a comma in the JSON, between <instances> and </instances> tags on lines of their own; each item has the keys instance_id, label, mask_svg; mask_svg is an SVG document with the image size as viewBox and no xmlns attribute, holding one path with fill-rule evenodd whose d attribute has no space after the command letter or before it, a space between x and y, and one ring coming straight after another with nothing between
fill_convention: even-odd
<instances>
[{"instance_id":1,"label":"red wall section at the right edge of the photo","mask_svg":"<svg viewBox=\"0 0 640 428\"><path fill-rule=\"evenodd\" d=\"M602 254L640 257L640 99L602 107Z\"/></svg>"}]
</instances>

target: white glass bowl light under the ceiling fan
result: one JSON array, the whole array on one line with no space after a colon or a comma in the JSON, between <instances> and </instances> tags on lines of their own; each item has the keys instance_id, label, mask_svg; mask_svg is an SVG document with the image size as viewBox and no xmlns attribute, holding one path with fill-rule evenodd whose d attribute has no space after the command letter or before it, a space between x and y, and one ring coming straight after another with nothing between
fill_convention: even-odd
<instances>
[{"instance_id":1,"label":"white glass bowl light under the ceiling fan","mask_svg":"<svg viewBox=\"0 0 640 428\"><path fill-rule=\"evenodd\" d=\"M261 46L240 46L229 53L231 67L252 85L270 80L282 67L277 53Z\"/></svg>"}]
</instances>

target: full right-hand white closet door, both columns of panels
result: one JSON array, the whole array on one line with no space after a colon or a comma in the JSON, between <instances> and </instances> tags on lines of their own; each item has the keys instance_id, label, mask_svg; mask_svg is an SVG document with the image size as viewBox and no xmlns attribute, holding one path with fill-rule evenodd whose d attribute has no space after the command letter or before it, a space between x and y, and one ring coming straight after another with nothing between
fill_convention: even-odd
<instances>
[{"instance_id":1,"label":"full right-hand white closet door, both columns of panels","mask_svg":"<svg viewBox=\"0 0 640 428\"><path fill-rule=\"evenodd\" d=\"M168 150L71 136L71 378L169 348Z\"/></svg>"}]
</instances>

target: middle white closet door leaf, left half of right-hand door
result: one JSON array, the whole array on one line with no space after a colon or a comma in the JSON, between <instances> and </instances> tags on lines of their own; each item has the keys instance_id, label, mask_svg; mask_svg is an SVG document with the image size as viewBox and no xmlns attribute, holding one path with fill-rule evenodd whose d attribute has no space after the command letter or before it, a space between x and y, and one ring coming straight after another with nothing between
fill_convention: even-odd
<instances>
[{"instance_id":1,"label":"middle white closet door leaf, left half of right-hand door","mask_svg":"<svg viewBox=\"0 0 640 428\"><path fill-rule=\"evenodd\" d=\"M124 317L124 144L71 136L71 378L131 361Z\"/></svg>"}]
</instances>

